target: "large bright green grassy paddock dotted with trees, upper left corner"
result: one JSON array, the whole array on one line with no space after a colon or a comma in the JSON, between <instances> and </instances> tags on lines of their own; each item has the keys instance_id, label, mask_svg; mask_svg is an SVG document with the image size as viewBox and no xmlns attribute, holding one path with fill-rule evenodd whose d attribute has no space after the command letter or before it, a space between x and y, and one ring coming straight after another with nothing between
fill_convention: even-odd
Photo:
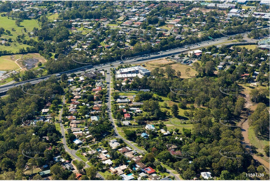
<instances>
[{"instance_id":1,"label":"large bright green grassy paddock dotted with trees, upper left corner","mask_svg":"<svg viewBox=\"0 0 270 181\"><path fill-rule=\"evenodd\" d=\"M0 22L1 22L0 28L4 28L5 30L9 30L11 33L11 35L7 35L6 33L2 34L0 39L4 39L4 38L6 38L6 39L11 38L12 39L12 42L10 43L11 46L0 45L0 50L7 50L7 51L11 51L11 52L16 53L20 48L26 49L26 47L29 47L29 45L24 45L24 44L20 45L18 42L16 42L16 37L18 35L23 34L22 33L23 28L26 28L26 30L33 30L34 27L39 28L38 22L34 19L23 20L21 22L20 26L16 26L15 21L16 21L16 19L12 20L11 18L8 18L6 16L4 16L4 17L0 16ZM11 30L12 28L14 28L15 31L12 31ZM25 39L30 40L30 37L25 36ZM4 42L2 42L2 43L4 44Z\"/></svg>"}]
</instances>

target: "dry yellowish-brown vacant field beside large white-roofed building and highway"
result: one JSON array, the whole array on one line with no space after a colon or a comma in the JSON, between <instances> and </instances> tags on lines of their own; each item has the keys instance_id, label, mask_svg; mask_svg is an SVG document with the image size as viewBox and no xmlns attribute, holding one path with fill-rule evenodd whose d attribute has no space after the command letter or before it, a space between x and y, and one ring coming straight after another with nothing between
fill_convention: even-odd
<instances>
[{"instance_id":1,"label":"dry yellowish-brown vacant field beside large white-roofed building and highway","mask_svg":"<svg viewBox=\"0 0 270 181\"><path fill-rule=\"evenodd\" d=\"M144 64L145 64L144 67L150 71L152 71L153 69L155 69L157 67L165 70L166 65L171 65L172 69L174 69L175 72L177 72L177 71L181 72L181 78L191 78L191 77L195 76L195 74L196 74L196 70L192 69L191 66L184 65L184 64L178 64L178 63L172 62L170 60L167 61L166 59L154 60L152 62L146 62ZM142 64L137 64L137 65L142 66ZM189 76L186 75L187 68L190 68ZM167 77L167 75L166 75L166 77Z\"/></svg>"}]
</instances>

